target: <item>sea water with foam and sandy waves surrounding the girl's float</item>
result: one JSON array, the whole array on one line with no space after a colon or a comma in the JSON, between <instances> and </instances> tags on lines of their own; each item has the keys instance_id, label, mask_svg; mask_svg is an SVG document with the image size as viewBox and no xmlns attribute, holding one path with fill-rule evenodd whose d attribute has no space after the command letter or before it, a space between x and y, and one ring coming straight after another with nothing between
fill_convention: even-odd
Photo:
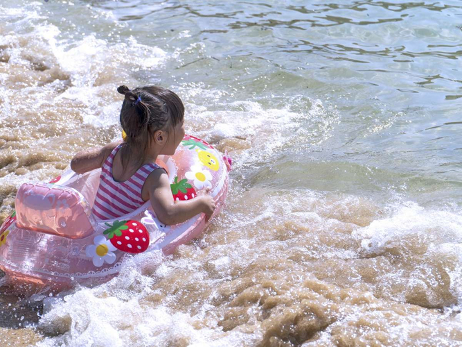
<instances>
[{"instance_id":1,"label":"sea water with foam and sandy waves surrounding the girl's float","mask_svg":"<svg viewBox=\"0 0 462 347\"><path fill-rule=\"evenodd\" d=\"M461 346L461 56L456 0L0 0L0 221L120 137L118 85L234 160L174 255L0 287L1 345Z\"/></svg>"}]
</instances>

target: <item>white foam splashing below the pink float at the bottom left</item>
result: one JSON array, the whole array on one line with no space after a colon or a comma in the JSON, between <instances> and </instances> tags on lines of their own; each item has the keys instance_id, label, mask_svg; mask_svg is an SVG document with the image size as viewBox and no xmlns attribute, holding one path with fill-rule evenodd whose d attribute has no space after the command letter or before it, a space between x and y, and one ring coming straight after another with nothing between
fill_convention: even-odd
<instances>
[{"instance_id":1,"label":"white foam splashing below the pink float at the bottom left","mask_svg":"<svg viewBox=\"0 0 462 347\"><path fill-rule=\"evenodd\" d=\"M163 299L165 305L146 305L150 298L161 295L152 289L153 284L156 278L168 277L171 266L195 266L181 260L177 264L162 262L166 259L160 253L136 255L128 258L119 276L105 285L46 299L48 312L39 321L39 329L62 335L37 346L230 346L249 339L236 333L211 343L220 335L220 328L204 326L201 321L213 306L190 315L168 307L173 296Z\"/></svg>"}]
</instances>

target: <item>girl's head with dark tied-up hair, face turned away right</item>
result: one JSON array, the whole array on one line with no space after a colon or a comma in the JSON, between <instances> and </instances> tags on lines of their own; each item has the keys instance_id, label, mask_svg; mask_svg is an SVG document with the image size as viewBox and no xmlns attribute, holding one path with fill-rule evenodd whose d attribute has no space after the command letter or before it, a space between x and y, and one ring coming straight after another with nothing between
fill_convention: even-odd
<instances>
[{"instance_id":1,"label":"girl's head with dark tied-up hair, face turned away right","mask_svg":"<svg viewBox=\"0 0 462 347\"><path fill-rule=\"evenodd\" d=\"M159 145L160 154L175 153L184 137L184 105L179 96L154 85L134 90L121 85L117 92L125 95L121 109L125 142L142 153L153 144Z\"/></svg>"}]
</instances>

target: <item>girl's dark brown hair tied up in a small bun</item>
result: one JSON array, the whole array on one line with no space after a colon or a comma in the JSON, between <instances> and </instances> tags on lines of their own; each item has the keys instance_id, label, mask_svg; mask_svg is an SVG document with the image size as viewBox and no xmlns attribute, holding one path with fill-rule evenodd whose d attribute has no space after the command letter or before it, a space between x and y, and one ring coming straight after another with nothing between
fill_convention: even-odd
<instances>
[{"instance_id":1,"label":"girl's dark brown hair tied up in a small bun","mask_svg":"<svg viewBox=\"0 0 462 347\"><path fill-rule=\"evenodd\" d=\"M127 135L125 142L132 152L145 153L156 130L170 132L184 118L181 99L166 88L147 85L130 90L121 85L117 92L125 95L120 120ZM123 155L122 158L125 168L128 156Z\"/></svg>"}]
</instances>

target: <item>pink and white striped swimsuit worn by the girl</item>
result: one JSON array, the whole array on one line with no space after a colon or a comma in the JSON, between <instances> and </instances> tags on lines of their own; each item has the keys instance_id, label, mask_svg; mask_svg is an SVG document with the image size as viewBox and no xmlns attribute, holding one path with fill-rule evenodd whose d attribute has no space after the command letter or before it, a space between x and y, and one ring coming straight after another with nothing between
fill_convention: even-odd
<instances>
[{"instance_id":1,"label":"pink and white striped swimsuit worn by the girl","mask_svg":"<svg viewBox=\"0 0 462 347\"><path fill-rule=\"evenodd\" d=\"M116 182L112 178L112 162L121 146L119 144L112 150L101 168L100 187L92 210L98 219L118 218L143 205L141 190L144 182L152 171L161 168L157 164L144 164L128 180Z\"/></svg>"}]
</instances>

